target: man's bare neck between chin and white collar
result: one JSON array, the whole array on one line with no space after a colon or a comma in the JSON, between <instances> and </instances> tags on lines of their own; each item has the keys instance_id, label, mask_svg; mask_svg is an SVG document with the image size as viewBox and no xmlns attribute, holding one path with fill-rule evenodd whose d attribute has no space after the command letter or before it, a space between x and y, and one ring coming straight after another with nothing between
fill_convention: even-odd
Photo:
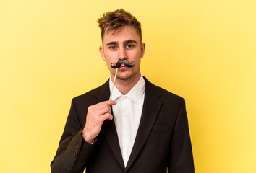
<instances>
[{"instance_id":1,"label":"man's bare neck between chin and white collar","mask_svg":"<svg viewBox=\"0 0 256 173\"><path fill-rule=\"evenodd\" d=\"M137 82L140 80L141 74L138 74L136 76L132 76L130 79L118 79L116 77L115 86L121 94L126 95L132 88L137 84ZM114 77L111 76L112 82L114 81Z\"/></svg>"}]
</instances>

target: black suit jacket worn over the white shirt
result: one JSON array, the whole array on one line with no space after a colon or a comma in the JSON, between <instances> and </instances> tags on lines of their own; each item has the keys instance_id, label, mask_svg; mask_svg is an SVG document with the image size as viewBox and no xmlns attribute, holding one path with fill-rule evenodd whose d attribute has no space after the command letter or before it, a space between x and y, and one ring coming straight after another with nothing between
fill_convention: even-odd
<instances>
[{"instance_id":1,"label":"black suit jacket worn over the white shirt","mask_svg":"<svg viewBox=\"0 0 256 173\"><path fill-rule=\"evenodd\" d=\"M145 101L127 167L121 156L114 120L105 120L94 144L81 136L88 107L108 100L108 81L72 99L51 172L191 173L194 171L185 102L145 79Z\"/></svg>"}]
</instances>

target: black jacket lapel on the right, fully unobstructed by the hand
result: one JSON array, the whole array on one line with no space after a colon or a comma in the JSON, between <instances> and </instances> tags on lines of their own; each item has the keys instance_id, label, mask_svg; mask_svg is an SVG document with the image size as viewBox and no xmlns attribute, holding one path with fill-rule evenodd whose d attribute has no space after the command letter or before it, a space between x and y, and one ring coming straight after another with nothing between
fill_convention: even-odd
<instances>
[{"instance_id":1,"label":"black jacket lapel on the right, fully unobstructed by the hand","mask_svg":"<svg viewBox=\"0 0 256 173\"><path fill-rule=\"evenodd\" d=\"M144 78L145 79L145 78ZM140 120L140 126L137 131L137 136L135 138L135 143L132 148L132 153L129 156L129 161L125 172L132 166L136 157L140 153L145 141L150 134L151 129L155 123L158 112L161 108L162 102L158 99L161 96L160 92L153 89L154 85L151 84L147 79L145 79L145 99L142 109L142 117Z\"/></svg>"}]
</instances>

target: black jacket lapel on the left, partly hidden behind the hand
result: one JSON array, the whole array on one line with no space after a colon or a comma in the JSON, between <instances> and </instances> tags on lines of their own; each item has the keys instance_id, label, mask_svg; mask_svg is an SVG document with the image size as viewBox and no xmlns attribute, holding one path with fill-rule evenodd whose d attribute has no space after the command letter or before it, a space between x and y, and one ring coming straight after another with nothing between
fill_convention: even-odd
<instances>
[{"instance_id":1,"label":"black jacket lapel on the left, partly hidden behind the hand","mask_svg":"<svg viewBox=\"0 0 256 173\"><path fill-rule=\"evenodd\" d=\"M98 92L95 93L95 97L98 99L98 102L103 102L109 99L110 89L109 89L109 81L106 81L103 86L98 88ZM113 112L112 112L113 115ZM121 149L119 146L118 136L116 133L116 126L114 120L105 120L102 128L102 132L106 136L106 140L111 148L111 151L114 153L116 160L119 162L121 167L124 169L124 161L121 156Z\"/></svg>"}]
</instances>

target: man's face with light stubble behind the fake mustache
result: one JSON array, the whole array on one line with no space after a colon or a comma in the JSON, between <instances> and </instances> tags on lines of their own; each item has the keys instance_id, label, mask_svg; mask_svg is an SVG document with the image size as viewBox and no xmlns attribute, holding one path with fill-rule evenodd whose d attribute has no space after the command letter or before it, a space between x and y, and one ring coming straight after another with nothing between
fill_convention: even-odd
<instances>
[{"instance_id":1,"label":"man's face with light stubble behind the fake mustache","mask_svg":"<svg viewBox=\"0 0 256 173\"><path fill-rule=\"evenodd\" d=\"M124 26L109 32L103 36L103 46L100 47L101 57L111 72L111 79L114 79L116 69L111 68L111 63L119 59L127 59L129 63L135 62L135 66L127 67L122 64L119 67L116 78L121 80L138 79L140 77L140 58L144 56L145 43L140 43L140 36L134 27Z\"/></svg>"}]
</instances>

